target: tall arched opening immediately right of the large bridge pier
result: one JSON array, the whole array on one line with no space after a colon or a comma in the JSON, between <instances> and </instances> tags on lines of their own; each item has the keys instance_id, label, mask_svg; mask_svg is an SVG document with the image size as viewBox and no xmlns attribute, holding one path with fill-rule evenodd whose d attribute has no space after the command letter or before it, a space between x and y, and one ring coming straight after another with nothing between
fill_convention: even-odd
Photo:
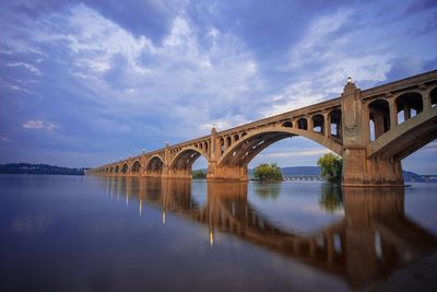
<instances>
[{"instance_id":1,"label":"tall arched opening immediately right of the large bridge pier","mask_svg":"<svg viewBox=\"0 0 437 292\"><path fill-rule=\"evenodd\" d=\"M390 106L385 100L376 100L368 105L370 141L390 130Z\"/></svg>"}]
</instances>

